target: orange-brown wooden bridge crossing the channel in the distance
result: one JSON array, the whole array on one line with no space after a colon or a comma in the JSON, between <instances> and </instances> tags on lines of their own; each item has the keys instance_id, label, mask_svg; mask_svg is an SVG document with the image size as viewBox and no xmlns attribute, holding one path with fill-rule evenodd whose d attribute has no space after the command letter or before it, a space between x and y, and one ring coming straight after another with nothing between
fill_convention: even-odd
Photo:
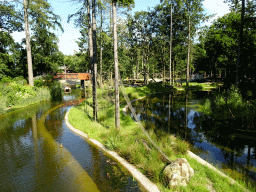
<instances>
[{"instance_id":1,"label":"orange-brown wooden bridge crossing the channel in the distance","mask_svg":"<svg viewBox=\"0 0 256 192\"><path fill-rule=\"evenodd\" d=\"M90 73L57 73L54 77L56 80L90 80Z\"/></svg>"}]
</instances>

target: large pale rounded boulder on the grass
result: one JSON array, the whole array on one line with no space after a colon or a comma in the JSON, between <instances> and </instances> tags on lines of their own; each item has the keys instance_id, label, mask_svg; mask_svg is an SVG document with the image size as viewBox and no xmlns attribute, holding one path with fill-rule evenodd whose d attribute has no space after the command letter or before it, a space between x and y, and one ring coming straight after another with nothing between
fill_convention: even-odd
<instances>
[{"instance_id":1,"label":"large pale rounded boulder on the grass","mask_svg":"<svg viewBox=\"0 0 256 192\"><path fill-rule=\"evenodd\" d=\"M190 167L187 159L180 158L167 165L163 175L169 187L186 186L194 176L194 170Z\"/></svg>"}]
</instances>

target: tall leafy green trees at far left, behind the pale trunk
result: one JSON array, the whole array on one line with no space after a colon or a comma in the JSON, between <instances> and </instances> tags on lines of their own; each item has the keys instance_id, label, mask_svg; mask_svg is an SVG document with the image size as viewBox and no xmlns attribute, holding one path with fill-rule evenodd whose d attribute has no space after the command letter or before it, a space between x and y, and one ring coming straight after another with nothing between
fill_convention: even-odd
<instances>
[{"instance_id":1,"label":"tall leafy green trees at far left, behind the pale trunk","mask_svg":"<svg viewBox=\"0 0 256 192\"><path fill-rule=\"evenodd\" d=\"M28 77L29 49L34 76L57 72L64 63L64 55L53 31L63 29L50 4L43 0L4 0L0 10L0 79ZM21 43L11 36L15 31L26 32Z\"/></svg>"}]
</instances>

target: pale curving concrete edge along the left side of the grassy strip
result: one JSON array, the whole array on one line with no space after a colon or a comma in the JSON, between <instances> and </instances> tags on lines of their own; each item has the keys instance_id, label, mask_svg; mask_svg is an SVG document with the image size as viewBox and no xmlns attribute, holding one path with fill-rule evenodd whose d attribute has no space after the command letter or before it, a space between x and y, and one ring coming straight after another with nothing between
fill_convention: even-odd
<instances>
[{"instance_id":1,"label":"pale curving concrete edge along the left side of the grassy strip","mask_svg":"<svg viewBox=\"0 0 256 192\"><path fill-rule=\"evenodd\" d=\"M152 183L145 175L143 175L138 169L136 169L135 166L128 163L125 159L120 157L116 152L109 151L106 149L106 147L101 144L99 141L95 139L89 139L88 135L76 128L74 128L68 121L68 114L69 111L65 115L65 122L67 127L72 130L73 132L81 135L82 137L88 139L90 142L95 144L97 147L99 147L101 150L105 151L109 155L111 155L113 158L115 158L118 162L120 162L131 174L134 178L137 179L137 181L149 192L160 192L157 185Z\"/></svg>"}]
</instances>

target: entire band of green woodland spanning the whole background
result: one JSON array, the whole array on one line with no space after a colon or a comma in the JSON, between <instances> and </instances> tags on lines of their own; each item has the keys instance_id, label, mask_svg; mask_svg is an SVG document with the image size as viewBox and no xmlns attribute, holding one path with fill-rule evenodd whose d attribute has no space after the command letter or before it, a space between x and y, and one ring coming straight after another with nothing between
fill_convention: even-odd
<instances>
[{"instance_id":1,"label":"entire band of green woodland spanning the whole background","mask_svg":"<svg viewBox=\"0 0 256 192\"><path fill-rule=\"evenodd\" d=\"M174 81L188 79L191 73L206 73L224 78L227 85L245 87L246 84L255 90L252 88L256 73L253 0L226 1L231 12L210 26L203 26L211 15L204 14L202 0L162 0L148 11L134 14L131 12L136 6L134 1L70 0L69 3L80 5L78 12L68 18L81 33L77 41L80 52L75 55L64 55L58 49L56 32L63 29L50 1L0 2L0 79L28 77L28 49L31 49L33 76L54 74L64 64L76 72L93 71L92 54L96 54L96 73L103 81L114 76L112 3L117 3L118 66L123 79L142 78L147 73L148 77ZM29 41L27 35L21 43L15 42L12 32L24 30L31 31ZM92 53L90 31L95 39L91 47L96 51ZM28 44L31 48L27 49Z\"/></svg>"}]
</instances>

